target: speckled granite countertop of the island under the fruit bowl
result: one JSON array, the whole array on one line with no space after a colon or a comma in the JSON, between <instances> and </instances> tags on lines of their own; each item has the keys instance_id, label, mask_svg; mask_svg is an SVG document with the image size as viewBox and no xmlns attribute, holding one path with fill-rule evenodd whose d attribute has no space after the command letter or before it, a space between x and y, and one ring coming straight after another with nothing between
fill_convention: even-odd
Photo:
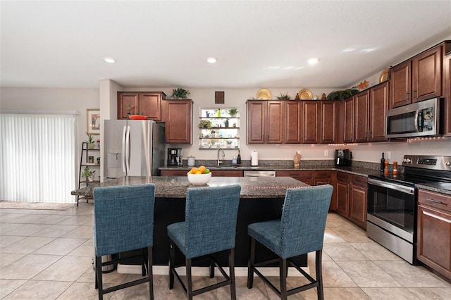
<instances>
[{"instance_id":1,"label":"speckled granite countertop of the island under the fruit bowl","mask_svg":"<svg viewBox=\"0 0 451 300\"><path fill-rule=\"evenodd\" d=\"M156 198L185 198L191 185L187 177L121 177L101 182L99 186L138 185L142 183L155 184ZM240 198L285 198L286 190L290 187L309 187L291 177L211 177L209 187L238 184L241 186ZM92 196L94 187L82 187L71 192L78 196Z\"/></svg>"}]
</instances>

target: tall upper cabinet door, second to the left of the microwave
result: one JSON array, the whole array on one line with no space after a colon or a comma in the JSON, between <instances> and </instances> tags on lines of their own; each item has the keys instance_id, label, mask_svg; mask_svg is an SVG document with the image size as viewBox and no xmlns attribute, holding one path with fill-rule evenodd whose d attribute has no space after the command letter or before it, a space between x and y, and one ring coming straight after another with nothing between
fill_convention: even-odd
<instances>
[{"instance_id":1,"label":"tall upper cabinet door, second to the left of the microwave","mask_svg":"<svg viewBox=\"0 0 451 300\"><path fill-rule=\"evenodd\" d=\"M354 96L354 142L368 142L369 90Z\"/></svg>"}]
</instances>

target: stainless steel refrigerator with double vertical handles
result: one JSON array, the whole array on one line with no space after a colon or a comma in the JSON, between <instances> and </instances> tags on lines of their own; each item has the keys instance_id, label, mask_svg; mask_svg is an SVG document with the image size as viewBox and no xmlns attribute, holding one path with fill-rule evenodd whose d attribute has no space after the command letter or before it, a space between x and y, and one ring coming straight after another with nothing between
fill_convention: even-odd
<instances>
[{"instance_id":1,"label":"stainless steel refrigerator with double vertical handles","mask_svg":"<svg viewBox=\"0 0 451 300\"><path fill-rule=\"evenodd\" d=\"M105 120L104 177L158 176L164 165L164 124L153 120Z\"/></svg>"}]
</instances>

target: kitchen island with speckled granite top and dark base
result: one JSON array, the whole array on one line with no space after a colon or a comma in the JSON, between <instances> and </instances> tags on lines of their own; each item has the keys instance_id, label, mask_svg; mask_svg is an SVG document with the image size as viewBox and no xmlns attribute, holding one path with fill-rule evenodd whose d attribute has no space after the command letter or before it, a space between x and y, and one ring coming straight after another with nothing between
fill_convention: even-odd
<instances>
[{"instance_id":1,"label":"kitchen island with speckled granite top and dark base","mask_svg":"<svg viewBox=\"0 0 451 300\"><path fill-rule=\"evenodd\" d=\"M166 227L185 220L186 190L196 187L187 177L122 177L101 182L100 186L155 184L154 209L154 265L168 265L169 239ZM235 244L235 265L247 266L247 225L264 220L280 218L286 189L308 187L292 177L211 177L207 186L218 187L238 184L241 186L238 208L237 235ZM92 196L93 187L83 187L72 192L78 196ZM95 201L95 199L94 199ZM257 249L257 259L272 257L265 248ZM183 259L183 256L177 257ZM227 263L227 255L218 256L221 263ZM307 265L307 256L299 258L301 265Z\"/></svg>"}]
</instances>

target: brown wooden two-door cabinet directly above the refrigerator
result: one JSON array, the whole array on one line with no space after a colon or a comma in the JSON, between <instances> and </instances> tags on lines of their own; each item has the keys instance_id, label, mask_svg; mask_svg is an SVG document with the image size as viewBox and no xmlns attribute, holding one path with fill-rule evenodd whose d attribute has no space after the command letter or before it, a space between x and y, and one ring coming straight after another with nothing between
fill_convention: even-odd
<instances>
[{"instance_id":1,"label":"brown wooden two-door cabinet directly above the refrigerator","mask_svg":"<svg viewBox=\"0 0 451 300\"><path fill-rule=\"evenodd\" d=\"M149 120L161 120L161 101L166 99L163 92L118 92L118 119L130 115L145 115Z\"/></svg>"}]
</instances>

